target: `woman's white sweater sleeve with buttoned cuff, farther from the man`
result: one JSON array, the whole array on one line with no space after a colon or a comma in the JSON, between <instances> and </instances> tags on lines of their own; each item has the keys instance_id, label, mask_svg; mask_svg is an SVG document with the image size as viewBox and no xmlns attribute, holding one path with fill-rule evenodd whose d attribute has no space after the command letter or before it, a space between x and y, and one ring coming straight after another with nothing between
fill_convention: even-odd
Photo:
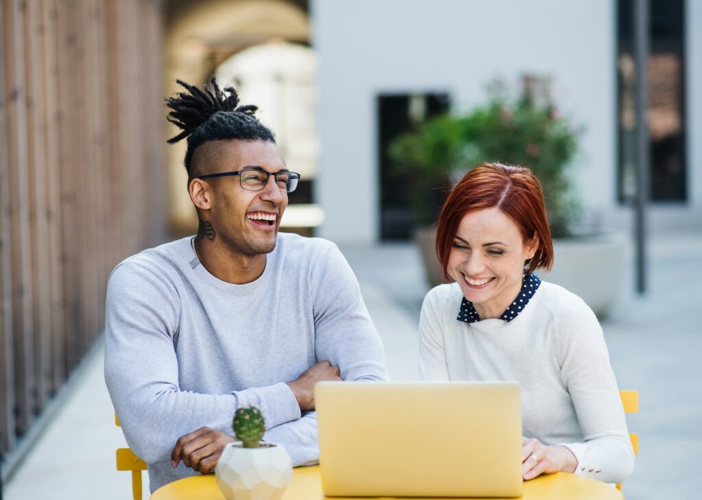
<instances>
[{"instance_id":1,"label":"woman's white sweater sleeve with buttoned cuff, farther from the man","mask_svg":"<svg viewBox=\"0 0 702 500\"><path fill-rule=\"evenodd\" d=\"M584 442L561 443L578 460L575 473L604 482L621 482L634 467L624 409L602 327L580 299L558 320L561 374L573 400Z\"/></svg>"}]
</instances>

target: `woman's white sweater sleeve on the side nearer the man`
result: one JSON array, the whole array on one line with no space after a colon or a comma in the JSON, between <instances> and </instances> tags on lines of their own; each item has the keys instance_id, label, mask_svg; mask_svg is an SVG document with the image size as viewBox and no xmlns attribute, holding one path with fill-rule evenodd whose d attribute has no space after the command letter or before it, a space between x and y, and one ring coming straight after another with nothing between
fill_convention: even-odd
<instances>
[{"instance_id":1,"label":"woman's white sweater sleeve on the side nearer the man","mask_svg":"<svg viewBox=\"0 0 702 500\"><path fill-rule=\"evenodd\" d=\"M423 380L449 380L442 329L442 286L425 296L419 316L419 376Z\"/></svg>"}]
</instances>

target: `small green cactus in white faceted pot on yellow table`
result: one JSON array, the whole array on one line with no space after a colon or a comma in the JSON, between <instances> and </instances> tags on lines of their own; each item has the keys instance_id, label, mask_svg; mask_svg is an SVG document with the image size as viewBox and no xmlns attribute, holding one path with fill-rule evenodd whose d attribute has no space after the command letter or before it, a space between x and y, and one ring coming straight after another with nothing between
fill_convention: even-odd
<instances>
[{"instance_id":1,"label":"small green cactus in white faceted pot on yellow table","mask_svg":"<svg viewBox=\"0 0 702 500\"><path fill-rule=\"evenodd\" d=\"M237 409L236 442L225 447L215 467L217 486L227 500L278 500L293 477L284 447L263 442L265 422L256 407Z\"/></svg>"}]
</instances>

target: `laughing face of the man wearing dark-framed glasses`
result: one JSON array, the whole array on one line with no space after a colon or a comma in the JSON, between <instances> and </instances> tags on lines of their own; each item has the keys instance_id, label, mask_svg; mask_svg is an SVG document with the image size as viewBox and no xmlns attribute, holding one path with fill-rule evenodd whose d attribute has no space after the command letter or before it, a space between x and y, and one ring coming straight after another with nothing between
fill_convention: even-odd
<instances>
[{"instance_id":1,"label":"laughing face of the man wearing dark-framed glasses","mask_svg":"<svg viewBox=\"0 0 702 500\"><path fill-rule=\"evenodd\" d=\"M269 173L287 169L275 143L232 139L203 146L209 150L197 158L196 175L241 171L246 167L257 167ZM268 178L260 191L241 187L239 176L208 178L204 182L211 192L211 209L205 220L213 225L220 244L246 256L267 254L275 248L288 194L280 190L274 176Z\"/></svg>"}]
</instances>

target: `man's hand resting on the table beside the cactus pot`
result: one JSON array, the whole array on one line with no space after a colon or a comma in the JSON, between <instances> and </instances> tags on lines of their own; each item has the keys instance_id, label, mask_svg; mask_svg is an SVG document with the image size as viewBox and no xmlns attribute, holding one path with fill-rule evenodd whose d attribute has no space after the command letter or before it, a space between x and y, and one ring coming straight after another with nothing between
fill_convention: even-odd
<instances>
[{"instance_id":1,"label":"man's hand resting on the table beside the cactus pot","mask_svg":"<svg viewBox=\"0 0 702 500\"><path fill-rule=\"evenodd\" d=\"M171 466L178 467L183 460L194 471L206 474L217 465L225 445L234 442L229 434L201 427L190 434L181 436L171 452Z\"/></svg>"}]
</instances>

